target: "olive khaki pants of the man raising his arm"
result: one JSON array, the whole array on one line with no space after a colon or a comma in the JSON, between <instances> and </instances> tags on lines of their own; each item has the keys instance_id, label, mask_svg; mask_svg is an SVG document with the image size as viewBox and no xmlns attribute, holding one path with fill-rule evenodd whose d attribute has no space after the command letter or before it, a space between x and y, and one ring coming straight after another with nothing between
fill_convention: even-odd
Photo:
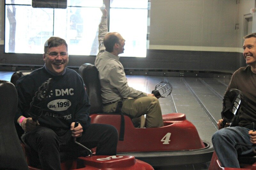
<instances>
[{"instance_id":1,"label":"olive khaki pants of the man raising his arm","mask_svg":"<svg viewBox=\"0 0 256 170\"><path fill-rule=\"evenodd\" d=\"M117 102L103 107L104 113L114 113ZM122 113L131 118L140 117L146 114L146 128L155 128L164 126L161 107L156 97L147 96L135 99L124 100Z\"/></svg>"}]
</instances>

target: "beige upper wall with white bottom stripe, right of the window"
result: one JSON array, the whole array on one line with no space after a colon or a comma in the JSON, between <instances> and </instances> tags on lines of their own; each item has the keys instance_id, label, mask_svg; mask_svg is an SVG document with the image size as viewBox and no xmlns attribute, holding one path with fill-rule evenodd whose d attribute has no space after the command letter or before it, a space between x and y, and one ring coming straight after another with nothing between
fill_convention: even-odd
<instances>
[{"instance_id":1,"label":"beige upper wall with white bottom stripe, right of the window","mask_svg":"<svg viewBox=\"0 0 256 170\"><path fill-rule=\"evenodd\" d=\"M236 0L151 0L150 49L236 52L238 9Z\"/></svg>"}]
</instances>

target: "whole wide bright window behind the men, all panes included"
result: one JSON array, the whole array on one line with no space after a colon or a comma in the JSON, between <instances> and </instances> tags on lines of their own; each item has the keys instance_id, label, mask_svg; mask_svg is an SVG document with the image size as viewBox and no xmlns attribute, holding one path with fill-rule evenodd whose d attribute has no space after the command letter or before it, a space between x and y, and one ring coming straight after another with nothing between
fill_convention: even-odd
<instances>
[{"instance_id":1,"label":"whole wide bright window behind the men, all panes included","mask_svg":"<svg viewBox=\"0 0 256 170\"><path fill-rule=\"evenodd\" d=\"M120 56L145 57L148 0L110 0L109 31L125 41ZM102 0L68 0L67 9L32 8L31 0L5 0L5 52L42 54L44 42L59 36L70 55L97 55Z\"/></svg>"}]
</instances>

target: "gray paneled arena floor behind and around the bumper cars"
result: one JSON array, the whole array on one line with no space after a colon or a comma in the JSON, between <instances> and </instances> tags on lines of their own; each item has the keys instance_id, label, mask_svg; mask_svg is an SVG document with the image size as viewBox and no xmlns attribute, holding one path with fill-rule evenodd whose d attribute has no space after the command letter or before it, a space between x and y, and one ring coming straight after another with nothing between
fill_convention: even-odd
<instances>
[{"instance_id":1,"label":"gray paneled arena floor behind and around the bumper cars","mask_svg":"<svg viewBox=\"0 0 256 170\"><path fill-rule=\"evenodd\" d=\"M0 71L0 79L10 81L12 73ZM151 93L161 81L171 83L171 95L159 99L162 114L186 114L187 120L196 126L201 139L212 141L212 134L217 131L217 121L221 118L222 97L230 77L216 74L212 78L127 76L127 79L129 86L147 93ZM166 169L207 169L208 166L209 162Z\"/></svg>"}]
</instances>

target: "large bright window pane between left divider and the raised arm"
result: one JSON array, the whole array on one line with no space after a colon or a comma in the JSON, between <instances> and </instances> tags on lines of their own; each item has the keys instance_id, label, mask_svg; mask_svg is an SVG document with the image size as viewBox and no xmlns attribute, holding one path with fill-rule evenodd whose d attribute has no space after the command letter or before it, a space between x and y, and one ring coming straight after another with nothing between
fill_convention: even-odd
<instances>
[{"instance_id":1,"label":"large bright window pane between left divider and the raised arm","mask_svg":"<svg viewBox=\"0 0 256 170\"><path fill-rule=\"evenodd\" d=\"M67 41L69 54L97 55L98 26L102 15L100 9L69 7L66 15L63 13L62 9L55 9L54 36Z\"/></svg>"}]
</instances>

